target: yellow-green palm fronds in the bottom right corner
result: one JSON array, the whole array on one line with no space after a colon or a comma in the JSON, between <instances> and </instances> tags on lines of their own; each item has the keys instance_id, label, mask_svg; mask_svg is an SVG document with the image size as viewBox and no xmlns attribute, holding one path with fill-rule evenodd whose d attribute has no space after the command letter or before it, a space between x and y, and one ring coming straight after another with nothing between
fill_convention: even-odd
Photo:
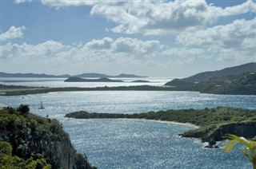
<instances>
[{"instance_id":1,"label":"yellow-green palm fronds in the bottom right corner","mask_svg":"<svg viewBox=\"0 0 256 169\"><path fill-rule=\"evenodd\" d=\"M232 150L234 144L240 143L246 147L242 147L242 154L246 157L251 163L253 163L254 169L256 169L256 142L252 140L246 140L243 137L238 137L235 135L226 136L226 146L223 148L224 151L228 152Z\"/></svg>"}]
</instances>

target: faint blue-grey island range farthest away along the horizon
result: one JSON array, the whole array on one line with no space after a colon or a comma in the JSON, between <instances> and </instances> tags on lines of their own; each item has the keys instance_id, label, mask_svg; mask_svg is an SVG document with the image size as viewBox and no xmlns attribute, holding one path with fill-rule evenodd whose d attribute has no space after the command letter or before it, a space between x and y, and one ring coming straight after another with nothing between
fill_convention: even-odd
<instances>
[{"instance_id":1,"label":"faint blue-grey island range farthest away along the horizon","mask_svg":"<svg viewBox=\"0 0 256 169\"><path fill-rule=\"evenodd\" d=\"M134 74L125 74L121 73L117 76L110 76L101 73L82 73L78 75L71 76L69 74L65 75L48 75L45 73L37 74L37 73L0 73L0 77L18 77L18 78L68 78L68 77L86 77L86 78L138 78L138 77L146 77L146 76L138 76Z\"/></svg>"}]
</instances>

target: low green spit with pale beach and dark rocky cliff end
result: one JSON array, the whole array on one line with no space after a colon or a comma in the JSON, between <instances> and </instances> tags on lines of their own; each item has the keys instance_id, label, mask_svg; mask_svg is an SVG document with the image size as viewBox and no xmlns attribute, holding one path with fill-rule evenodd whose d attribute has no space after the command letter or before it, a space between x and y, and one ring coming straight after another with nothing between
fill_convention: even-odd
<instances>
[{"instance_id":1,"label":"low green spit with pale beach and dark rocky cliff end","mask_svg":"<svg viewBox=\"0 0 256 169\"><path fill-rule=\"evenodd\" d=\"M193 108L182 110L167 110L160 112L146 112L140 114L111 114L90 113L86 111L70 112L66 117L76 119L143 119L161 120L191 124L190 131L181 134L183 137L194 137L209 142L214 147L216 141L225 139L226 134L234 134L253 139L256 136L256 110L242 108Z\"/></svg>"}]
</instances>

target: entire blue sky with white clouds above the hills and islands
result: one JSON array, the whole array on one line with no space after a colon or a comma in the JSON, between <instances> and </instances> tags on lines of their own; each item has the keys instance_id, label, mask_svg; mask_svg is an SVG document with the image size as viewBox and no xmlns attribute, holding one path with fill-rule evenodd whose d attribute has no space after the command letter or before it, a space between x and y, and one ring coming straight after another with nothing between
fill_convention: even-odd
<instances>
[{"instance_id":1,"label":"entire blue sky with white clouds above the hills and islands","mask_svg":"<svg viewBox=\"0 0 256 169\"><path fill-rule=\"evenodd\" d=\"M256 61L256 0L1 0L1 72L188 77Z\"/></svg>"}]
</instances>

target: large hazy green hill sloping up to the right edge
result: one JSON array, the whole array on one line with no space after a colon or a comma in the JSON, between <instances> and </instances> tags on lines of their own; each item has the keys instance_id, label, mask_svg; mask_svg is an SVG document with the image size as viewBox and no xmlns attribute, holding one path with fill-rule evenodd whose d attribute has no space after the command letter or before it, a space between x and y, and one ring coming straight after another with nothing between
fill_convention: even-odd
<instances>
[{"instance_id":1,"label":"large hazy green hill sloping up to the right edge","mask_svg":"<svg viewBox=\"0 0 256 169\"><path fill-rule=\"evenodd\" d=\"M256 95L256 62L215 72L198 73L165 84L174 90L213 94Z\"/></svg>"}]
</instances>

